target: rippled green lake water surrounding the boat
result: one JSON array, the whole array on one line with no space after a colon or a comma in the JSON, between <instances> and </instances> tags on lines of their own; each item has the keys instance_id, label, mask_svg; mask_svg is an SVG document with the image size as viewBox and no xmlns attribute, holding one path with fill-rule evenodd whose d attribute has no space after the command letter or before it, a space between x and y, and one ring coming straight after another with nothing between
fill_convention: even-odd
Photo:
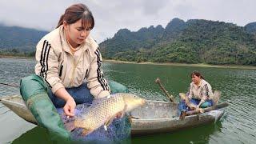
<instances>
[{"instance_id":1,"label":"rippled green lake water surrounding the boat","mask_svg":"<svg viewBox=\"0 0 256 144\"><path fill-rule=\"evenodd\" d=\"M0 58L0 82L18 85L20 78L34 73L34 60ZM160 78L166 90L178 101L186 92L193 70L202 72L213 90L221 90L220 102L229 102L220 121L172 133L132 138L132 143L255 143L256 70L195 66L159 66L104 63L106 79L120 82L131 93L146 99L167 101L154 83ZM18 88L0 84L0 97L18 94ZM50 143L46 130L19 118L0 104L0 143Z\"/></svg>"}]
</instances>

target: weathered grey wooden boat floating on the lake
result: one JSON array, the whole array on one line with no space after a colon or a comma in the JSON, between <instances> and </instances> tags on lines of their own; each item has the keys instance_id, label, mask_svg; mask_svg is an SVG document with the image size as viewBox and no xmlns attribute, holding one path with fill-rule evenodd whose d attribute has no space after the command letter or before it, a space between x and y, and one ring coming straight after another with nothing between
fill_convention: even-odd
<instances>
[{"instance_id":1,"label":"weathered grey wooden boat floating on the lake","mask_svg":"<svg viewBox=\"0 0 256 144\"><path fill-rule=\"evenodd\" d=\"M37 124L34 116L27 109L20 95L1 98L1 102L27 122ZM177 106L178 104L175 102L147 100L144 106L130 112L132 115L132 134L155 134L204 125L210 122L216 122L224 114L223 110L210 110L203 114L188 115L180 120Z\"/></svg>"}]
</instances>

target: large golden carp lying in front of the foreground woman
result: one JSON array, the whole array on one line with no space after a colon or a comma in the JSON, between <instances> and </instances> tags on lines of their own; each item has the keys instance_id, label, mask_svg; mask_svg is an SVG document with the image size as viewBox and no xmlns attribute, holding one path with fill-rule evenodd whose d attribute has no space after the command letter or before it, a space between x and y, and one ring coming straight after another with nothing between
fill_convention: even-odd
<instances>
[{"instance_id":1,"label":"large golden carp lying in front of the foreground woman","mask_svg":"<svg viewBox=\"0 0 256 144\"><path fill-rule=\"evenodd\" d=\"M110 125L118 114L123 116L126 112L142 106L145 102L145 99L134 94L111 94L110 97L94 100L91 106L83 110L77 118L74 118L74 121L66 123L65 126L70 131L74 128L82 128L82 135L90 134L102 125L106 130L106 126Z\"/></svg>"}]
</instances>

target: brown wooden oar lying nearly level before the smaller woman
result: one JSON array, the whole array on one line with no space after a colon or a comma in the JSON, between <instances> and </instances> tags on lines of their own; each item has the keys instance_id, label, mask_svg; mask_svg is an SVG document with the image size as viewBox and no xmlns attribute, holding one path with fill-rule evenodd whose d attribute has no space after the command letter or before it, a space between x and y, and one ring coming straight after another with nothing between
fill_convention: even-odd
<instances>
[{"instance_id":1,"label":"brown wooden oar lying nearly level before the smaller woman","mask_svg":"<svg viewBox=\"0 0 256 144\"><path fill-rule=\"evenodd\" d=\"M226 107L226 106L229 106L229 104L227 102L223 102L223 103L218 104L216 106L210 106L210 107L202 108L201 110L203 111L203 113L206 113L206 112L209 112L210 110L217 110L217 109L221 109L221 108ZM182 111L182 114L179 118L182 120L182 119L185 118L185 116L200 114L200 113L201 113L200 109L186 111L186 112Z\"/></svg>"}]
</instances>

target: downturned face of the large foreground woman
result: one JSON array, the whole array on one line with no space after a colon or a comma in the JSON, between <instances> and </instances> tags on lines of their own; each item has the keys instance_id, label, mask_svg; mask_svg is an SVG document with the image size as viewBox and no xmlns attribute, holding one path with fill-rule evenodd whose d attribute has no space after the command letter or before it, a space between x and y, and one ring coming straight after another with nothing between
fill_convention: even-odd
<instances>
[{"instance_id":1,"label":"downturned face of the large foreground woman","mask_svg":"<svg viewBox=\"0 0 256 144\"><path fill-rule=\"evenodd\" d=\"M86 27L82 27L82 19L72 24L63 23L64 29L66 30L66 39L70 42L70 45L74 48L85 42L87 36L90 34L91 24L88 23Z\"/></svg>"}]
</instances>

